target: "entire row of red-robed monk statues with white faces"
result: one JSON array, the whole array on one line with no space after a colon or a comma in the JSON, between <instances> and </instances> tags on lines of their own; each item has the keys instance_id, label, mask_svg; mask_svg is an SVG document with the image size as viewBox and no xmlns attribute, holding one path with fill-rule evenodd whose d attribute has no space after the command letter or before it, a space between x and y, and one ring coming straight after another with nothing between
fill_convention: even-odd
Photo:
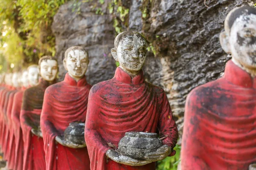
<instances>
[{"instance_id":1,"label":"entire row of red-robed monk statues with white faces","mask_svg":"<svg viewBox=\"0 0 256 170\"><path fill-rule=\"evenodd\" d=\"M254 170L256 8L234 9L224 25L221 46L233 58L224 77L187 96L182 170ZM0 146L8 169L155 170L156 161L175 155L167 96L143 78L145 38L122 32L111 53L120 64L113 79L93 87L79 46L65 52L62 82L55 82L58 63L50 56L22 74L2 75Z\"/></svg>"}]
</instances>

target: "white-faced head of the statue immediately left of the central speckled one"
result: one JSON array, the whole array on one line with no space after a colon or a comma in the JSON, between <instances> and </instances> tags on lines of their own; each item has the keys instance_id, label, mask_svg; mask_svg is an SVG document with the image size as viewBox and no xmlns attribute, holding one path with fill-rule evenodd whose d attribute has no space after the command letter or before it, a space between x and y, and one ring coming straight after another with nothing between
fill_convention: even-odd
<instances>
[{"instance_id":1,"label":"white-faced head of the statue immediately left of the central speckled one","mask_svg":"<svg viewBox=\"0 0 256 170\"><path fill-rule=\"evenodd\" d=\"M80 46L73 46L66 50L63 60L64 68L70 77L78 81L87 71L89 64L88 52Z\"/></svg>"}]
</instances>

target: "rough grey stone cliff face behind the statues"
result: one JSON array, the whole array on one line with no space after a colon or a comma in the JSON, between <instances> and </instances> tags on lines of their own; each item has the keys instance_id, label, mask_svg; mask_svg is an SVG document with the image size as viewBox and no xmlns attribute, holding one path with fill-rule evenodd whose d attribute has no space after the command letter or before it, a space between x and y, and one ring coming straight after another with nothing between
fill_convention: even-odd
<instances>
[{"instance_id":1,"label":"rough grey stone cliff face behind the statues","mask_svg":"<svg viewBox=\"0 0 256 170\"><path fill-rule=\"evenodd\" d=\"M204 0L87 1L70 1L54 17L60 79L65 73L64 52L73 45L89 51L86 75L90 84L111 79L116 68L110 53L115 30L141 32L151 49L143 68L145 78L165 89L180 134L187 94L221 77L230 59L218 38L227 13L237 6L253 5L251 0L206 0L206 6ZM128 14L120 15L120 9L128 9Z\"/></svg>"}]
</instances>

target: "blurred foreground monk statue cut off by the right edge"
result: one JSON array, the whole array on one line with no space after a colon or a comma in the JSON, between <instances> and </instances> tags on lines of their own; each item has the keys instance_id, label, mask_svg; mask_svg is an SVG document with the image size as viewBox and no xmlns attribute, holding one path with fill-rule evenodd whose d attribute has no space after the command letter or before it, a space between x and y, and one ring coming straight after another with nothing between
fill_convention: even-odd
<instances>
[{"instance_id":1,"label":"blurred foreground monk statue cut off by the right edge","mask_svg":"<svg viewBox=\"0 0 256 170\"><path fill-rule=\"evenodd\" d=\"M256 8L227 15L221 46L232 59L224 77L186 99L182 170L248 170L256 163Z\"/></svg>"}]
</instances>

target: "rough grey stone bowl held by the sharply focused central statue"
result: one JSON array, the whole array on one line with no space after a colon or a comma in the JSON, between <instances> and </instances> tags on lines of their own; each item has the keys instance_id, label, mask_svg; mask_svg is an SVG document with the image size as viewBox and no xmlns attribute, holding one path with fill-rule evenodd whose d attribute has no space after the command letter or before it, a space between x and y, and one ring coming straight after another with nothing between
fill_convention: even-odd
<instances>
[{"instance_id":1,"label":"rough grey stone bowl held by the sharply focused central statue","mask_svg":"<svg viewBox=\"0 0 256 170\"><path fill-rule=\"evenodd\" d=\"M157 133L127 132L118 144L118 153L137 160L145 160L146 153L155 152L162 141Z\"/></svg>"}]
</instances>

